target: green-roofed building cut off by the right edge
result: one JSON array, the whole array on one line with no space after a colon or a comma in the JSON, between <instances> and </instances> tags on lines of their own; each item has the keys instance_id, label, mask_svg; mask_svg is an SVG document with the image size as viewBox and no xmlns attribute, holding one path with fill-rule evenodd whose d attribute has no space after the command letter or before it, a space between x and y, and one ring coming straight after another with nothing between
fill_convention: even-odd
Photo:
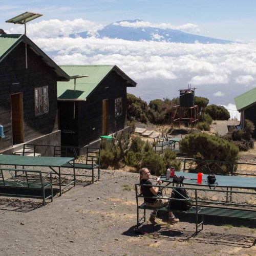
<instances>
[{"instance_id":1,"label":"green-roofed building cut off by the right edge","mask_svg":"<svg viewBox=\"0 0 256 256\"><path fill-rule=\"evenodd\" d=\"M245 92L234 98L237 110L241 113L240 124L241 128L244 127L244 120L249 119L256 127L256 88ZM256 129L254 130L253 137L256 137Z\"/></svg>"}]
</instances>

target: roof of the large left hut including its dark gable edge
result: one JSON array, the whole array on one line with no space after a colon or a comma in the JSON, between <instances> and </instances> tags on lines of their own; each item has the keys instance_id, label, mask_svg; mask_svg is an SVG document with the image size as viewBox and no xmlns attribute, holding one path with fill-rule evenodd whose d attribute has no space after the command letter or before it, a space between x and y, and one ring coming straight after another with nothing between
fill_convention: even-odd
<instances>
[{"instance_id":1,"label":"roof of the large left hut including its dark gable edge","mask_svg":"<svg viewBox=\"0 0 256 256\"><path fill-rule=\"evenodd\" d=\"M59 81L69 81L69 75L24 34L0 34L0 62L22 41L40 55L47 65L57 73Z\"/></svg>"}]
</instances>

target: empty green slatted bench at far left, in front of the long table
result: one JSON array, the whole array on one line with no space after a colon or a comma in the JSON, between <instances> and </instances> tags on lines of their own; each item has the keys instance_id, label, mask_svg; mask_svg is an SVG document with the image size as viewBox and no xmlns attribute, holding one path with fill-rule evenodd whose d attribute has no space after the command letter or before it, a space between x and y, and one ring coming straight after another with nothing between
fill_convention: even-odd
<instances>
[{"instance_id":1,"label":"empty green slatted bench at far left, in front of the long table","mask_svg":"<svg viewBox=\"0 0 256 256\"><path fill-rule=\"evenodd\" d=\"M48 179L46 180L46 178ZM41 198L44 205L48 199L53 201L51 171L42 176L40 170L0 168L0 188L0 195L3 196ZM15 189L15 194L10 193L10 189ZM20 194L19 190L23 189L40 190L41 196ZM46 189L50 189L51 192L48 197L46 197Z\"/></svg>"}]
</instances>

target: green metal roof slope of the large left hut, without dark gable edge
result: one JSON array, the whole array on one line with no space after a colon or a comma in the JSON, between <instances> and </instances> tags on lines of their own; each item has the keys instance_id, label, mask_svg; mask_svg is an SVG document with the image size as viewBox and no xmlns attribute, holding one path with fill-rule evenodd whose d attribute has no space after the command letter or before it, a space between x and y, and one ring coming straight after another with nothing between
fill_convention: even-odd
<instances>
[{"instance_id":1,"label":"green metal roof slope of the large left hut, without dark gable edge","mask_svg":"<svg viewBox=\"0 0 256 256\"><path fill-rule=\"evenodd\" d=\"M16 46L16 44L19 42L19 38L22 35L6 35L6 34L0 34L0 61L2 58L4 58L9 51Z\"/></svg>"}]
</instances>

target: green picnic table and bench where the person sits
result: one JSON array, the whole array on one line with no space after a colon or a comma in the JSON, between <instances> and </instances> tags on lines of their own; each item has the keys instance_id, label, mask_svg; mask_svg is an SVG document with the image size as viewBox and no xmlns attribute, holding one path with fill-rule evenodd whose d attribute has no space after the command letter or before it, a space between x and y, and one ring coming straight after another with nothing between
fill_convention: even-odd
<instances>
[{"instance_id":1,"label":"green picnic table and bench where the person sits","mask_svg":"<svg viewBox=\"0 0 256 256\"><path fill-rule=\"evenodd\" d=\"M172 208L172 211L179 212L182 214L190 214L196 216L196 234L203 230L204 216L217 216L224 218L239 218L239 219L249 219L256 220L256 179L255 177L238 177L238 176L220 176L216 175L217 184L211 185L216 186L217 189L210 189L208 182L204 179L201 184L197 183L197 174L193 173L183 173L176 172L177 176L184 176L185 179L183 184L186 185L184 188L191 193L189 198L170 198L169 200L178 201L188 201L191 203L191 207L187 210ZM155 187L169 188L178 191L180 187L173 185L173 178L170 177L166 180L166 177L161 177L163 185L154 185ZM169 211L168 206L162 206L159 208L151 207L146 205L144 202L139 203L139 198L144 199L143 195L140 193L140 184L135 184L136 191L136 205L137 205L137 228L143 220L145 222L145 210L160 210ZM143 185L152 186L152 185ZM220 189L218 189L220 188ZM229 190L228 190L229 188ZM250 191L248 191L250 190ZM179 193L179 192L178 192ZM207 196L206 196L207 193ZM209 194L208 194L209 193ZM236 200L232 200L232 195L237 195ZM226 197L226 198L225 198ZM161 197L153 197L161 198ZM249 200L248 200L249 198ZM166 199L166 198L165 198ZM242 202L242 200L245 200ZM139 218L139 210L143 210L142 218ZM201 217L201 222L199 222L199 216ZM201 230L199 227L201 226Z\"/></svg>"}]
</instances>

